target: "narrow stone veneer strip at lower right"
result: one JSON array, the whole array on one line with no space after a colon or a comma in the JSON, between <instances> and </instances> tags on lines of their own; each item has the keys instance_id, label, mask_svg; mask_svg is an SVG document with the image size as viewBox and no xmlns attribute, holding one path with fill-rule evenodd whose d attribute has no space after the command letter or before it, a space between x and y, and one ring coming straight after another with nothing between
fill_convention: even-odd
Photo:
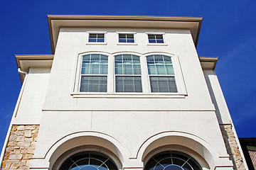
<instances>
[{"instance_id":1,"label":"narrow stone veneer strip at lower right","mask_svg":"<svg viewBox=\"0 0 256 170\"><path fill-rule=\"evenodd\" d=\"M245 165L243 164L242 157L238 148L238 143L235 140L235 135L231 125L220 125L220 130L223 135L225 147L227 148L230 160L233 162L234 170L244 170Z\"/></svg>"}]
</instances>

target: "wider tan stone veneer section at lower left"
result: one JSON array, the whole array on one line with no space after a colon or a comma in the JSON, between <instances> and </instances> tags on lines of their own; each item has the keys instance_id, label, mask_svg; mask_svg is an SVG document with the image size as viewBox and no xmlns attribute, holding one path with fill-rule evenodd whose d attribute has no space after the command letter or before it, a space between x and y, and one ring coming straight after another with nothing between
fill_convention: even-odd
<instances>
[{"instance_id":1,"label":"wider tan stone veneer section at lower left","mask_svg":"<svg viewBox=\"0 0 256 170\"><path fill-rule=\"evenodd\" d=\"M2 169L28 170L36 148L39 125L13 125Z\"/></svg>"}]
</instances>

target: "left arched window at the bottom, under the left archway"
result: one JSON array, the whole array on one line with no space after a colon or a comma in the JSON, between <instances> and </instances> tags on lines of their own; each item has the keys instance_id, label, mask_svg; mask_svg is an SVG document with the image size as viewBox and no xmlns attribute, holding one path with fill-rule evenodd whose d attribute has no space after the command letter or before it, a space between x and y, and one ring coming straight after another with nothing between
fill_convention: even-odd
<instances>
[{"instance_id":1,"label":"left arched window at the bottom, under the left archway","mask_svg":"<svg viewBox=\"0 0 256 170\"><path fill-rule=\"evenodd\" d=\"M100 152L79 152L68 157L59 170L117 170L117 166Z\"/></svg>"}]
</instances>

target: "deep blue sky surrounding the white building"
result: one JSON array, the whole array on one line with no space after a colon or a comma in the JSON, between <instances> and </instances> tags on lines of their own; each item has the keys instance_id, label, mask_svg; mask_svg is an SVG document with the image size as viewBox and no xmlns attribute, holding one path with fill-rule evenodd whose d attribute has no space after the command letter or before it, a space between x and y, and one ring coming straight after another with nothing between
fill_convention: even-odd
<instances>
[{"instance_id":1,"label":"deep blue sky surrounding the white building","mask_svg":"<svg viewBox=\"0 0 256 170\"><path fill-rule=\"evenodd\" d=\"M14 55L51 54L47 14L203 17L198 55L215 68L239 137L256 137L256 1L0 1L0 148L21 81ZM39 89L38 89L39 90Z\"/></svg>"}]
</instances>

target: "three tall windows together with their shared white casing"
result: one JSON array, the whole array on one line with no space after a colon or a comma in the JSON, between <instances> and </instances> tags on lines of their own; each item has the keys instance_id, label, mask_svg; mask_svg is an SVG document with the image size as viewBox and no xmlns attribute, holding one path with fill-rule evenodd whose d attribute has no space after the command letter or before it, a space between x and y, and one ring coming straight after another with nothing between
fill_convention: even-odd
<instances>
[{"instance_id":1,"label":"three tall windows together with their shared white casing","mask_svg":"<svg viewBox=\"0 0 256 170\"><path fill-rule=\"evenodd\" d=\"M137 97L147 98L156 94L156 98L184 98L187 93L178 56L167 55L161 52L147 55L87 52L78 55L71 95L118 98L140 94Z\"/></svg>"}]
</instances>

